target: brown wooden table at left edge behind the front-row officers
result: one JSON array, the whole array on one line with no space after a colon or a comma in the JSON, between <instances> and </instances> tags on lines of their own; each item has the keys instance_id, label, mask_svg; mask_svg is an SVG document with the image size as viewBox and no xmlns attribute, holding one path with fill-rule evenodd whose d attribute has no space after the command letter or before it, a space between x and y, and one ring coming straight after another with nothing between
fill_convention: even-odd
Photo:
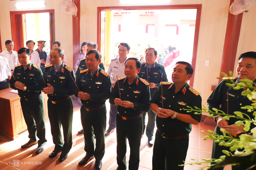
<instances>
[{"instance_id":1,"label":"brown wooden table at left edge behind the front-row officers","mask_svg":"<svg viewBox=\"0 0 256 170\"><path fill-rule=\"evenodd\" d=\"M26 122L20 105L20 97L17 93L11 93L11 88L0 90L0 135L11 138L17 138L20 132L27 129ZM48 118L46 94L42 93L45 119Z\"/></svg>"}]
</instances>

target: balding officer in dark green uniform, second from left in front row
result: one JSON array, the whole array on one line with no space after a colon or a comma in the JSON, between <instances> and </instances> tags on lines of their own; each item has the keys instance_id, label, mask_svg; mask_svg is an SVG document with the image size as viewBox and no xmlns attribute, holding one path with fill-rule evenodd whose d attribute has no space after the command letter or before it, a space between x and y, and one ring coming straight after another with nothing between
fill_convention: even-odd
<instances>
[{"instance_id":1,"label":"balding officer in dark green uniform, second from left in front row","mask_svg":"<svg viewBox=\"0 0 256 170\"><path fill-rule=\"evenodd\" d=\"M67 158L72 147L73 102L71 96L77 88L74 82L75 73L72 68L62 62L63 59L64 53L60 48L55 48L50 52L51 65L46 66L44 71L44 81L47 87L43 89L43 92L48 96L48 116L53 143L55 144L49 157L53 158L61 152L60 162Z\"/></svg>"}]
</instances>

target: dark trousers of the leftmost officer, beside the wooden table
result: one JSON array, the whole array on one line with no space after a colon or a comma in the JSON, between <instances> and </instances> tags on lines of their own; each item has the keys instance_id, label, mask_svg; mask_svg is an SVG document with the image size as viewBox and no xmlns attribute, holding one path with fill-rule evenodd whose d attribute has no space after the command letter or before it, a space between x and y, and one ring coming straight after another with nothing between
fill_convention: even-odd
<instances>
[{"instance_id":1,"label":"dark trousers of the leftmost officer, beside the wooden table","mask_svg":"<svg viewBox=\"0 0 256 170\"><path fill-rule=\"evenodd\" d=\"M24 120L27 124L27 131L29 132L29 141L34 142L38 140L38 146L46 144L46 129L44 122L44 103L43 97L31 99L26 101L20 98L21 109Z\"/></svg>"}]
</instances>

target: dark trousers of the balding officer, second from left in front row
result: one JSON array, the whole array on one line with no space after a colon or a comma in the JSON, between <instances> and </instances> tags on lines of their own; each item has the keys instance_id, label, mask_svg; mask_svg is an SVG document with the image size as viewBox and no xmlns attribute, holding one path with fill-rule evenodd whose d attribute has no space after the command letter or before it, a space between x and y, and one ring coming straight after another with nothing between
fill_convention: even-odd
<instances>
[{"instance_id":1,"label":"dark trousers of the balding officer, second from left in front row","mask_svg":"<svg viewBox=\"0 0 256 170\"><path fill-rule=\"evenodd\" d=\"M62 153L69 153L72 148L72 122L73 122L73 101L72 98L53 104L48 99L48 116L51 125L51 133L55 150L60 150ZM62 142L61 125L64 135L64 144Z\"/></svg>"}]
</instances>

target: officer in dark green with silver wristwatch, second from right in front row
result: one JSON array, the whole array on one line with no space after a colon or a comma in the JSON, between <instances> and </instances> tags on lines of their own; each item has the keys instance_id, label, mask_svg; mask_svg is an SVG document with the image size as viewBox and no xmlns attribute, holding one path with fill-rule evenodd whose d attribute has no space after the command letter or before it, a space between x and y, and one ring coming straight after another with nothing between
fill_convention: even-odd
<instances>
[{"instance_id":1,"label":"officer in dark green with silver wristwatch, second from right in front row","mask_svg":"<svg viewBox=\"0 0 256 170\"><path fill-rule=\"evenodd\" d=\"M189 63L177 62L173 83L163 82L151 99L151 109L157 114L152 170L184 168L178 165L186 159L191 124L197 125L201 120L201 114L183 110L186 106L202 108L200 93L187 84L192 74Z\"/></svg>"}]
</instances>

